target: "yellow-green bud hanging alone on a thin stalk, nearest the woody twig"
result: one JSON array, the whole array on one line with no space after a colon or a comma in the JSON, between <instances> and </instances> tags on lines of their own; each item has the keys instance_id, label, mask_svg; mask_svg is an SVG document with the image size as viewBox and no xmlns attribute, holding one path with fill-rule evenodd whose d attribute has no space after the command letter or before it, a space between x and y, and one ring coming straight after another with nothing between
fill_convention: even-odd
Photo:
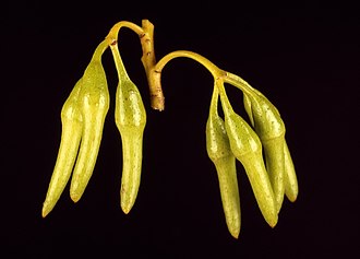
<instances>
[{"instance_id":1,"label":"yellow-green bud hanging alone on a thin stalk, nearest the woody twig","mask_svg":"<svg viewBox=\"0 0 360 259\"><path fill-rule=\"evenodd\" d=\"M135 203L142 170L146 110L136 85L130 80L119 56L119 84L115 119L122 141L121 209L129 213Z\"/></svg>"}]
</instances>

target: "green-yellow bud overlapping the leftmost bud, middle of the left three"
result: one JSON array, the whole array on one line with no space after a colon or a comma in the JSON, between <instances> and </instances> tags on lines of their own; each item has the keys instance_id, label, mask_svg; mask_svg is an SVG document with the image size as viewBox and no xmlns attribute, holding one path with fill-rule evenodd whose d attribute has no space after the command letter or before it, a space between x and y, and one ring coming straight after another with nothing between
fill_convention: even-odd
<instances>
[{"instance_id":1,"label":"green-yellow bud overlapping the leftmost bud, middle of the left three","mask_svg":"<svg viewBox=\"0 0 360 259\"><path fill-rule=\"evenodd\" d=\"M70 197L74 202L80 200L93 175L109 109L109 92L101 64L106 47L106 42L97 47L82 78L79 107L83 118L83 137L70 187Z\"/></svg>"}]
</instances>

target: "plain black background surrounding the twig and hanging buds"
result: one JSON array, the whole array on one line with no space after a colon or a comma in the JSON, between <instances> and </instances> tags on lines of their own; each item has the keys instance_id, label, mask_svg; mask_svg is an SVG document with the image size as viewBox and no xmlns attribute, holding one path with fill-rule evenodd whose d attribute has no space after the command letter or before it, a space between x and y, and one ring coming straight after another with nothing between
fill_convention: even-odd
<instances>
[{"instance_id":1,"label":"plain black background surrounding the twig and hanging buds","mask_svg":"<svg viewBox=\"0 0 360 259\"><path fill-rule=\"evenodd\" d=\"M1 42L1 229L4 258L314 258L359 256L359 54L356 9L179 2L7 3ZM104 55L111 96L93 177L74 204L69 186L41 219L60 143L60 110L97 44L119 21L155 25L157 59L196 51L263 92L280 110L300 193L266 225L238 164L242 226L227 231L216 172L205 149L213 80L199 63L163 70L166 110L149 108L137 36L119 47L147 111L140 192L120 209L117 75ZM4 20L4 21L3 21ZM241 93L227 86L243 115ZM2 257L2 256L1 256Z\"/></svg>"}]
</instances>

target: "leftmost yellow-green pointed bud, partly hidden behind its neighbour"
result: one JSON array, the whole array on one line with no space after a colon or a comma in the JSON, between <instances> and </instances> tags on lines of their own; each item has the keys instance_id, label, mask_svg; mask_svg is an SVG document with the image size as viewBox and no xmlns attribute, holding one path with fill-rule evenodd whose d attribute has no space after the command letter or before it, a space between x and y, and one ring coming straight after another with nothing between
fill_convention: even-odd
<instances>
[{"instance_id":1,"label":"leftmost yellow-green pointed bud, partly hidden behind its neighbour","mask_svg":"<svg viewBox=\"0 0 360 259\"><path fill-rule=\"evenodd\" d=\"M82 116L77 106L81 80L76 83L61 109L61 142L48 192L43 205L45 217L58 202L65 188L79 151L82 134Z\"/></svg>"}]
</instances>

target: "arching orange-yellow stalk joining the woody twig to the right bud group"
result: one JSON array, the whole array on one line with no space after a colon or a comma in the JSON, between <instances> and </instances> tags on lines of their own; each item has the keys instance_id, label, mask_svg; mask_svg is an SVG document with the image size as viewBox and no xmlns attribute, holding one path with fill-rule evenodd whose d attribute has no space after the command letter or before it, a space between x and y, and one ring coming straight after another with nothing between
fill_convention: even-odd
<instances>
[{"instance_id":1,"label":"arching orange-yellow stalk joining the woody twig to the right bud group","mask_svg":"<svg viewBox=\"0 0 360 259\"><path fill-rule=\"evenodd\" d=\"M207 58L192 51L188 50L177 50L172 51L165 57L163 57L156 64L155 64L155 72L161 73L163 68L165 64L167 64L171 59L175 58L191 58L201 64L203 64L214 76L215 80L223 78L226 75L226 72L218 67L216 67L212 61L209 61Z\"/></svg>"}]
</instances>

